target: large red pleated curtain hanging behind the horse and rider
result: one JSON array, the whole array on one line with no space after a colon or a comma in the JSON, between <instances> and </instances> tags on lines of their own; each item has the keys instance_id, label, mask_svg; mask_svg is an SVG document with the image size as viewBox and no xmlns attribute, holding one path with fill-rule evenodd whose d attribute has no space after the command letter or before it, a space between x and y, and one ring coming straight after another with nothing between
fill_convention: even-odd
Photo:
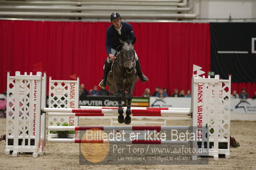
<instances>
[{"instance_id":1,"label":"large red pleated curtain hanging behind the horse and rider","mask_svg":"<svg viewBox=\"0 0 256 170\"><path fill-rule=\"evenodd\" d=\"M134 96L145 88L191 89L192 65L210 70L210 29L201 23L131 23L135 50L149 81L137 82ZM47 72L52 79L80 77L86 89L98 85L107 58L105 34L110 22L0 20L0 92L6 72Z\"/></svg>"}]
</instances>

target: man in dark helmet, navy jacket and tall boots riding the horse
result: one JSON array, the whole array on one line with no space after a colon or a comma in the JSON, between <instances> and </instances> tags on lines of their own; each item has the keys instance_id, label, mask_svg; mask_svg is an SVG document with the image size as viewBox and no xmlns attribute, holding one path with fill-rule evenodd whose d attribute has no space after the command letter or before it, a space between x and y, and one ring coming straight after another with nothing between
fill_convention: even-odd
<instances>
[{"instance_id":1,"label":"man in dark helmet, navy jacket and tall boots riding the horse","mask_svg":"<svg viewBox=\"0 0 256 170\"><path fill-rule=\"evenodd\" d=\"M107 37L106 37L106 49L108 52L108 58L105 61L104 66L104 75L101 82L99 82L99 86L101 88L105 88L107 84L107 77L108 72L110 71L110 66L112 61L115 60L115 56L117 55L117 48L121 46L121 42L119 40L122 40L123 42L130 41L132 44L135 43L136 38L133 35L133 29L130 24L127 22L121 22L121 16L119 13L114 12L110 15L110 20L112 22L112 25L108 27L107 29ZM135 61L136 61L136 70L137 75L141 79L141 82L148 81L148 77L143 75L141 72L141 65L139 63L139 58L135 52Z\"/></svg>"}]
</instances>

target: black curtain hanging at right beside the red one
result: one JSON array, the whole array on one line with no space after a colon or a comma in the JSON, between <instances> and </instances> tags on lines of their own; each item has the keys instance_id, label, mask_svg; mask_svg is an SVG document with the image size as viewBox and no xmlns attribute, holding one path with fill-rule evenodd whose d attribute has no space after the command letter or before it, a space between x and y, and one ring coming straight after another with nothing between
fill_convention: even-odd
<instances>
[{"instance_id":1,"label":"black curtain hanging at right beside the red one","mask_svg":"<svg viewBox=\"0 0 256 170\"><path fill-rule=\"evenodd\" d=\"M256 23L210 23L211 71L232 82L256 82ZM254 43L254 45L253 45Z\"/></svg>"}]
</instances>

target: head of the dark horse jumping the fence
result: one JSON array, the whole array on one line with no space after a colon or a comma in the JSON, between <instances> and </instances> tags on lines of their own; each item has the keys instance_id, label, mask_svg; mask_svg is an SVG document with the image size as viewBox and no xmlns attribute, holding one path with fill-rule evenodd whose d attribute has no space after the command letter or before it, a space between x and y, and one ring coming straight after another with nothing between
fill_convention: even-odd
<instances>
[{"instance_id":1,"label":"head of the dark horse jumping the fence","mask_svg":"<svg viewBox=\"0 0 256 170\"><path fill-rule=\"evenodd\" d=\"M127 73L132 73L135 68L135 50L130 42L122 42L121 61Z\"/></svg>"}]
</instances>

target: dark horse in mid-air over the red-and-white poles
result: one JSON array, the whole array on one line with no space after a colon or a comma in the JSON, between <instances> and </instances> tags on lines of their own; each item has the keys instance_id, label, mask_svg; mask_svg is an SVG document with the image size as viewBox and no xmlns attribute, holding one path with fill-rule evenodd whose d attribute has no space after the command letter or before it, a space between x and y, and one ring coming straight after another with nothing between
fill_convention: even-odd
<instances>
[{"instance_id":1,"label":"dark horse in mid-air over the red-and-white poles","mask_svg":"<svg viewBox=\"0 0 256 170\"><path fill-rule=\"evenodd\" d=\"M135 82L138 76L135 69L135 50L130 42L122 42L120 52L112 65L112 72L108 74L107 84L110 91L116 95L118 100L118 122L131 123L131 101ZM127 101L126 117L123 116L122 98Z\"/></svg>"}]
</instances>

